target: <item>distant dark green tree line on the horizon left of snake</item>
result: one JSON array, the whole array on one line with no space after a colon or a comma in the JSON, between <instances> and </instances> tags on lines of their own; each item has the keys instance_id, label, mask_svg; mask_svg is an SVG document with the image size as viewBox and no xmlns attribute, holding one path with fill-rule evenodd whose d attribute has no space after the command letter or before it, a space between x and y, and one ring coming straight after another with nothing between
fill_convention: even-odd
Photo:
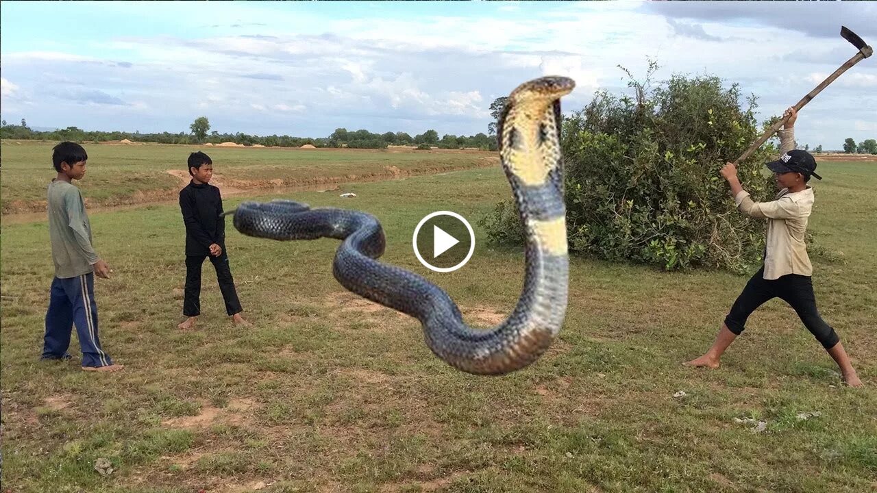
<instances>
[{"instance_id":1,"label":"distant dark green tree line on the horizon left of snake","mask_svg":"<svg viewBox=\"0 0 877 493\"><path fill-rule=\"evenodd\" d=\"M0 139L41 139L41 140L72 140L83 141L118 141L129 139L137 142L157 142L160 144L220 144L222 142L234 142L245 146L259 144L273 147L300 147L310 144L316 147L351 147L366 149L386 149L387 146L418 146L428 149L433 146L443 149L478 148L481 150L496 150L496 135L488 135L483 132L475 135L445 134L439 139L439 132L427 130L411 137L407 132L373 133L367 130L348 131L346 128L337 128L335 132L324 138L292 137L289 135L250 135L244 132L219 133L210 132L210 121L206 117L199 117L189 125L189 133L186 132L104 132L85 131L75 126L40 132L27 126L24 118L20 125L9 125L3 120L0 125Z\"/></svg>"}]
</instances>

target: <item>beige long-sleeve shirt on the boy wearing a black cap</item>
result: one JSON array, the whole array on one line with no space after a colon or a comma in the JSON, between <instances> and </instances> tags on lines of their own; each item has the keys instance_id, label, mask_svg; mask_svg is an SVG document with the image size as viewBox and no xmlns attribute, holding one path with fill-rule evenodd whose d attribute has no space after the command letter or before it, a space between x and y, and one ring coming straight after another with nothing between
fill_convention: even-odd
<instances>
[{"instance_id":1,"label":"beige long-sleeve shirt on the boy wearing a black cap","mask_svg":"<svg viewBox=\"0 0 877 493\"><path fill-rule=\"evenodd\" d=\"M781 154L795 148L794 128L778 133ZM745 190L734 197L738 209L744 214L767 219L765 279L778 279L788 274L813 275L813 265L804 243L813 200L813 189L809 185L800 192L789 193L788 189L781 189L771 202L755 202Z\"/></svg>"}]
</instances>

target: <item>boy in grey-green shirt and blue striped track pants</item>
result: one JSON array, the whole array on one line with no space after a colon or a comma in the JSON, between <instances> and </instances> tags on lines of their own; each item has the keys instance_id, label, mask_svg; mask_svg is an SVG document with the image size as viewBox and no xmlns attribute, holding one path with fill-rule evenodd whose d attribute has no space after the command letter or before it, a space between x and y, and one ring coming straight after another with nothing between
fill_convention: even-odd
<instances>
[{"instance_id":1,"label":"boy in grey-green shirt and blue striped track pants","mask_svg":"<svg viewBox=\"0 0 877 493\"><path fill-rule=\"evenodd\" d=\"M110 278L110 266L91 246L91 225L82 194L72 183L82 180L89 155L75 142L54 146L52 162L58 176L48 186L49 239L52 241L54 279L46 311L43 360L67 360L70 335L82 349L82 369L111 372L125 368L114 364L97 336L95 275Z\"/></svg>"}]
</instances>

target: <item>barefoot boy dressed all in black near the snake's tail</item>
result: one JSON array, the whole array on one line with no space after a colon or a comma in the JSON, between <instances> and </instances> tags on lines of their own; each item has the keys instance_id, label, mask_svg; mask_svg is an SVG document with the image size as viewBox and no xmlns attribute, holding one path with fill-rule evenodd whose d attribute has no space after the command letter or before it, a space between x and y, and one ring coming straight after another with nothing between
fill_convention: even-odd
<instances>
[{"instance_id":1,"label":"barefoot boy dressed all in black near the snake's tail","mask_svg":"<svg viewBox=\"0 0 877 493\"><path fill-rule=\"evenodd\" d=\"M219 189L210 185L213 177L210 156L202 152L189 154L189 175L192 175L192 181L180 190L182 222L186 225L186 289L182 314L188 318L177 326L190 329L201 314L201 266L207 257L216 268L225 311L236 325L249 325L240 315L243 308L234 289L232 268L225 252L222 196Z\"/></svg>"}]
</instances>

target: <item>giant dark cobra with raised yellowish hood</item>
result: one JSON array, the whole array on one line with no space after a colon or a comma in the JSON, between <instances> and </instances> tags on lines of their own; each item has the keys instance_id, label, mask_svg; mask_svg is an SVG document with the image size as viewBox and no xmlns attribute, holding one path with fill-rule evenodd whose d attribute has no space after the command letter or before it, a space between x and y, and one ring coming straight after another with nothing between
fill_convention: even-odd
<instances>
[{"instance_id":1,"label":"giant dark cobra with raised yellowish hood","mask_svg":"<svg viewBox=\"0 0 877 493\"><path fill-rule=\"evenodd\" d=\"M524 289L517 306L491 330L470 328L447 293L424 277L381 261L386 241L374 216L310 209L285 200L244 202L234 214L241 233L267 239L341 239L333 273L346 289L420 320L426 344L454 368L500 375L524 368L560 332L567 310L567 230L560 155L560 96L574 82L542 77L509 96L498 126L505 175L526 234Z\"/></svg>"}]
</instances>

